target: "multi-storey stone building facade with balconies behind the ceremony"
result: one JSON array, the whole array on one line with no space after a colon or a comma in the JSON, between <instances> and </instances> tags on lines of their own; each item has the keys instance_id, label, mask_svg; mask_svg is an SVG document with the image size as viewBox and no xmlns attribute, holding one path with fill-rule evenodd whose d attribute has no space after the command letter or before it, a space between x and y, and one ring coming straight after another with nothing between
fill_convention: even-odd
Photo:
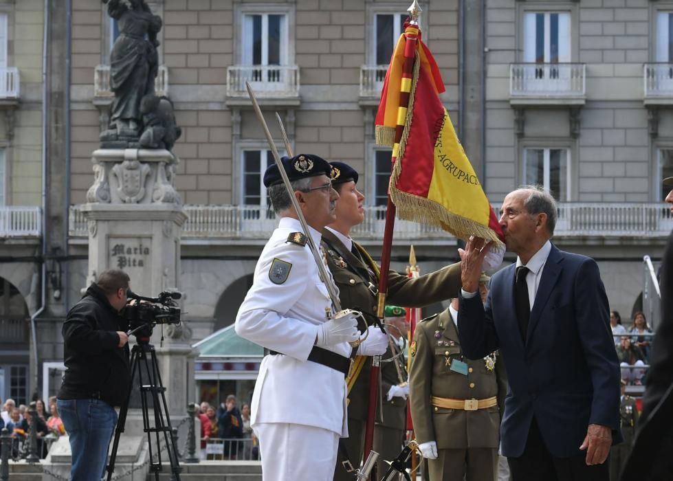
<instances>
[{"instance_id":1,"label":"multi-storey stone building facade with balconies behind the ceremony","mask_svg":"<svg viewBox=\"0 0 673 481\"><path fill-rule=\"evenodd\" d=\"M232 324L276 225L262 186L272 157L245 81L280 152L287 149L276 112L295 153L362 172L367 219L353 237L379 255L390 150L375 145L373 121L410 2L146 3L164 21L155 88L173 100L183 128L174 148L188 214L179 287L194 342ZM423 40L446 86L442 100L489 199L497 205L522 183L549 188L560 202L555 243L597 258L611 307L628 318L643 290L643 255L656 261L673 227L660 187L673 175L673 2L430 0L421 8ZM47 396L60 377L60 325L88 282L79 206L109 123L109 54L119 30L96 1L0 2L0 72L5 11L6 68L21 75L21 95L8 98L14 107L0 115L0 199L43 221L20 238L5 232L9 260L0 262L0 277L10 284L4 292L25 302L12 313L25 328L23 395L38 386ZM0 92L2 109L3 102ZM421 272L458 259L452 236L397 221L394 268L404 271L412 244ZM5 386L14 364L4 359L13 350L0 346ZM235 378L245 397L254 372L231 377L212 367L224 363L200 364L202 392L231 390ZM0 391L10 394L18 396Z\"/></svg>"}]
</instances>

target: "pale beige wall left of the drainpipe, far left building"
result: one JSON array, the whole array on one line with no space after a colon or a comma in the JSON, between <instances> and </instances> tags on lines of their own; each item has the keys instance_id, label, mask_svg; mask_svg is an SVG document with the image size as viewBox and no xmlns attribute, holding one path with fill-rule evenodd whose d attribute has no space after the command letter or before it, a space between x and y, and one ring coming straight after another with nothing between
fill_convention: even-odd
<instances>
[{"instance_id":1,"label":"pale beige wall left of the drainpipe, far left building","mask_svg":"<svg viewBox=\"0 0 673 481\"><path fill-rule=\"evenodd\" d=\"M8 3L8 2L5 2ZM8 5L8 67L18 67L21 103L14 113L14 137L8 138L4 115L0 143L5 146L8 205L41 205L42 192L42 50L41 0ZM5 5L0 5L5 7Z\"/></svg>"}]
</instances>

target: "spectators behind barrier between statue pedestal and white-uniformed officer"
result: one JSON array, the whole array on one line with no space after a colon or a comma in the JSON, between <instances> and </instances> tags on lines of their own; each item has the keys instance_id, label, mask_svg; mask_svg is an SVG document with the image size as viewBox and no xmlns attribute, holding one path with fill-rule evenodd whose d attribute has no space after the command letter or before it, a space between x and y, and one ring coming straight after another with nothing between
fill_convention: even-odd
<instances>
[{"instance_id":1,"label":"spectators behind barrier between statue pedestal and white-uniformed officer","mask_svg":"<svg viewBox=\"0 0 673 481\"><path fill-rule=\"evenodd\" d=\"M218 407L202 402L196 416L201 422L201 452L207 459L258 459L257 440L250 427L250 405L237 407L230 394Z\"/></svg>"}]
</instances>

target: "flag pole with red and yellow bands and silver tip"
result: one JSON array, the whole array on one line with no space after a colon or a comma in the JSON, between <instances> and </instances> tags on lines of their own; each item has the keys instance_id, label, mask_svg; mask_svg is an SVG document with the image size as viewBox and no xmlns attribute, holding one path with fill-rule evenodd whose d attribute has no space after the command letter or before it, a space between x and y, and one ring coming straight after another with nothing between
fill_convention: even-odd
<instances>
[{"instance_id":1,"label":"flag pole with red and yellow bands and silver tip","mask_svg":"<svg viewBox=\"0 0 673 481\"><path fill-rule=\"evenodd\" d=\"M402 83L399 96L399 107L397 108L397 126L395 127L395 144L393 145L393 156L390 159L391 172L392 166L397 159L399 141L404 132L406 121L406 111L409 105L409 96L411 89L411 79L413 76L414 63L416 58L417 39L418 39L418 16L421 7L418 0L414 0L407 9L409 12L409 26L415 27L414 32L405 31L406 44L404 47L404 67L402 69ZM407 29L408 30L408 29ZM381 254L381 275L379 276L379 298L377 303L377 317L381 324L384 323L386 308L386 292L388 291L388 271L390 270L390 251L393 246L393 229L395 227L395 204L390 200L390 190L388 190L388 204L386 208L386 227L384 230L383 247ZM374 440L374 421L376 417L377 397L379 394L379 373L381 370L381 356L372 357L371 374L369 377L369 403L367 411L367 425L364 434L364 453L362 460L366 460L373 447ZM375 480L376 469L373 470L369 480Z\"/></svg>"}]
</instances>

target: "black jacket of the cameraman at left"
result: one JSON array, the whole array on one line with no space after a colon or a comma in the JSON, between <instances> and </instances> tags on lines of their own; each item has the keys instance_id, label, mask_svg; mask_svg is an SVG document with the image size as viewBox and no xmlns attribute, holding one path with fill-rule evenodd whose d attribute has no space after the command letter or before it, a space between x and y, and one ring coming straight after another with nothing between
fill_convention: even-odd
<instances>
[{"instance_id":1,"label":"black jacket of the cameraman at left","mask_svg":"<svg viewBox=\"0 0 673 481\"><path fill-rule=\"evenodd\" d=\"M122 405L131 382L129 344L119 348L116 331L125 331L126 324L104 291L91 284L63 323L66 370L58 399Z\"/></svg>"}]
</instances>

